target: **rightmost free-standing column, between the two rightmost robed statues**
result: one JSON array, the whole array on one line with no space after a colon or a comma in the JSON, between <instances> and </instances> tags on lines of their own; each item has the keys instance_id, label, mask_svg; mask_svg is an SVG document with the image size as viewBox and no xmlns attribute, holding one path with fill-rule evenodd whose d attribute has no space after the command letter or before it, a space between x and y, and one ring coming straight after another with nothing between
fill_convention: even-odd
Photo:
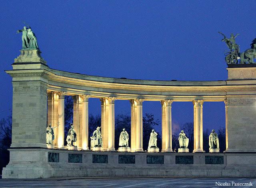
<instances>
[{"instance_id":1,"label":"rightmost free-standing column, between the two rightmost robed statues","mask_svg":"<svg viewBox=\"0 0 256 188\"><path fill-rule=\"evenodd\" d=\"M194 150L203 153L203 100L195 100L194 104Z\"/></svg>"}]
</instances>

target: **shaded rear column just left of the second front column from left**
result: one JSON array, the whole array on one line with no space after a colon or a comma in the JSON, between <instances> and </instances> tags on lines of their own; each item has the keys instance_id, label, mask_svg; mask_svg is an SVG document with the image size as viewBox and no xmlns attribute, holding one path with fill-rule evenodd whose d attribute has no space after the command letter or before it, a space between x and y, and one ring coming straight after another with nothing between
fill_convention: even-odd
<instances>
[{"instance_id":1,"label":"shaded rear column just left of the second front column from left","mask_svg":"<svg viewBox=\"0 0 256 188\"><path fill-rule=\"evenodd\" d=\"M73 124L74 130L76 131L76 142L78 150L82 149L82 98L78 95L73 96L74 106L73 106Z\"/></svg>"}]
</instances>

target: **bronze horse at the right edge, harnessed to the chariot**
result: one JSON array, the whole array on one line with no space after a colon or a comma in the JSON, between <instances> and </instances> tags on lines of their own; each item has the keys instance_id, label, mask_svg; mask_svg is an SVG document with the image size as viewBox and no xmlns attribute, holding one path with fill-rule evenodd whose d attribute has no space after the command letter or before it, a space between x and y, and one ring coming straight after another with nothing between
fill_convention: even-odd
<instances>
[{"instance_id":1,"label":"bronze horse at the right edge, harnessed to the chariot","mask_svg":"<svg viewBox=\"0 0 256 188\"><path fill-rule=\"evenodd\" d=\"M256 38L252 41L251 48L240 54L240 64L255 63L254 58L256 58Z\"/></svg>"}]
</instances>

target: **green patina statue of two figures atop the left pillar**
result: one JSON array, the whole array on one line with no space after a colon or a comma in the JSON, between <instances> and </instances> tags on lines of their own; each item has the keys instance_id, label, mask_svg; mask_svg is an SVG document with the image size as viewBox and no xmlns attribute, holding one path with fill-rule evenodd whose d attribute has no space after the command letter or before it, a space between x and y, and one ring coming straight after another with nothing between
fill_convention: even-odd
<instances>
[{"instance_id":1,"label":"green patina statue of two figures atop the left pillar","mask_svg":"<svg viewBox=\"0 0 256 188\"><path fill-rule=\"evenodd\" d=\"M24 28L22 30L18 30L17 33L22 32L22 48L23 49L39 49L36 35L32 32L31 27L29 26Z\"/></svg>"}]
</instances>

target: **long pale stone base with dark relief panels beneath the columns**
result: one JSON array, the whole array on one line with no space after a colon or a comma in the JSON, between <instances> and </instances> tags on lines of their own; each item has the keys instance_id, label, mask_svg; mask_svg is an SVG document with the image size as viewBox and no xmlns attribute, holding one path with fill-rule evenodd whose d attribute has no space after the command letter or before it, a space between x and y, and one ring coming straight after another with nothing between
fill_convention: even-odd
<instances>
[{"instance_id":1,"label":"long pale stone base with dark relief panels beneath the columns","mask_svg":"<svg viewBox=\"0 0 256 188\"><path fill-rule=\"evenodd\" d=\"M256 177L256 153L250 152L121 153L46 148L9 151L10 162L3 168L2 178Z\"/></svg>"}]
</instances>

